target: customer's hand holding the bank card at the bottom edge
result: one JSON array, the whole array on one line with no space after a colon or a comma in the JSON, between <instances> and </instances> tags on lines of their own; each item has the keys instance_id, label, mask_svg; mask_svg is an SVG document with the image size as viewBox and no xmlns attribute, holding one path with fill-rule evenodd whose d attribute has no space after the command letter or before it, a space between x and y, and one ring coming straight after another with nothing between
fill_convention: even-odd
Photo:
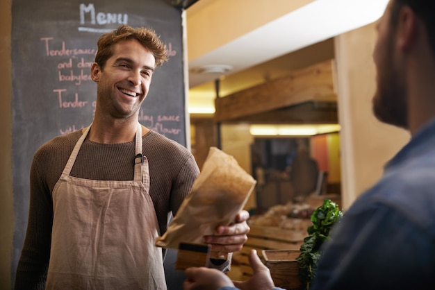
<instances>
[{"instance_id":1,"label":"customer's hand holding the bank card at the bottom edge","mask_svg":"<svg viewBox=\"0 0 435 290\"><path fill-rule=\"evenodd\" d=\"M220 287L234 287L227 275L219 270L205 267L190 267L186 271L183 290L215 290Z\"/></svg>"}]
</instances>

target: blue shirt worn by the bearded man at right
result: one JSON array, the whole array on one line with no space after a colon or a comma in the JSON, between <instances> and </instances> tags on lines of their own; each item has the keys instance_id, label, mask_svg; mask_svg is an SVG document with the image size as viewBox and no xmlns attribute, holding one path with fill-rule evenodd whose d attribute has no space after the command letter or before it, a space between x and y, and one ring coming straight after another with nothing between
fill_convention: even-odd
<instances>
[{"instance_id":1,"label":"blue shirt worn by the bearded man at right","mask_svg":"<svg viewBox=\"0 0 435 290\"><path fill-rule=\"evenodd\" d=\"M435 289L435 121L345 212L311 289Z\"/></svg>"}]
</instances>

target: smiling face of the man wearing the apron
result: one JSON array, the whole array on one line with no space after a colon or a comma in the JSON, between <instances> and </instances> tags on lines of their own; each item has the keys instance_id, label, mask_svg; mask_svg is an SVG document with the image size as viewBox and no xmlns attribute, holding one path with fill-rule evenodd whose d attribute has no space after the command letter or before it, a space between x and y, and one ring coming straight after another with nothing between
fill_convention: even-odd
<instances>
[{"instance_id":1,"label":"smiling face of the man wearing the apron","mask_svg":"<svg viewBox=\"0 0 435 290\"><path fill-rule=\"evenodd\" d=\"M97 83L97 110L115 119L138 114L148 94L155 58L137 40L124 40L113 46L104 70L94 64L92 79Z\"/></svg>"}]
</instances>

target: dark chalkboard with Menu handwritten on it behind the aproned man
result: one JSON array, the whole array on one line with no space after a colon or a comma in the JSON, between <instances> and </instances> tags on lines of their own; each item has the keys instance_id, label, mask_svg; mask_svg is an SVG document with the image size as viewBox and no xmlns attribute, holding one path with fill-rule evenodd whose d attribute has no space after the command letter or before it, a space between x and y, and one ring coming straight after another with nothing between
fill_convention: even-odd
<instances>
[{"instance_id":1,"label":"dark chalkboard with Menu handwritten on it behind the aproned man","mask_svg":"<svg viewBox=\"0 0 435 290\"><path fill-rule=\"evenodd\" d=\"M154 73L140 123L186 146L186 120L181 10L162 0L14 0L12 16L15 280L33 154L49 139L92 121L97 85L90 79L90 65L102 33L128 24L161 35L169 61Z\"/></svg>"}]
</instances>

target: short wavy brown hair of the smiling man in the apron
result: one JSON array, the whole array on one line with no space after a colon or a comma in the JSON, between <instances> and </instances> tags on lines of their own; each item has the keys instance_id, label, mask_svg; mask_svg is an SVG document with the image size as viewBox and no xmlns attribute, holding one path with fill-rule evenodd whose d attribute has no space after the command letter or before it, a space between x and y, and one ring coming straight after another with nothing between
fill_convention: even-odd
<instances>
[{"instance_id":1,"label":"short wavy brown hair of the smiling man in the apron","mask_svg":"<svg viewBox=\"0 0 435 290\"><path fill-rule=\"evenodd\" d=\"M167 60L166 46L153 29L120 25L114 31L104 33L104 35L99 37L95 62L97 62L101 69L104 69L106 61L113 55L113 45L122 40L138 40L142 46L153 54L156 59L156 67L162 65Z\"/></svg>"}]
</instances>

